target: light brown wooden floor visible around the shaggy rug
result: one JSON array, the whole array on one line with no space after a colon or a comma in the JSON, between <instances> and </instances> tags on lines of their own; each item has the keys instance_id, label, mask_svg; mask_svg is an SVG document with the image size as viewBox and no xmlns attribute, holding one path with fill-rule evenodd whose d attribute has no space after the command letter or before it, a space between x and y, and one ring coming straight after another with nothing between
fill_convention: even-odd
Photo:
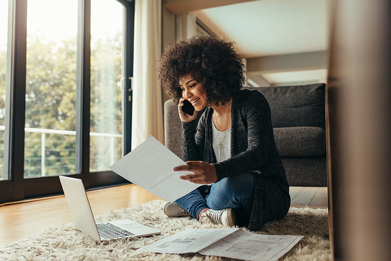
<instances>
[{"instance_id":1,"label":"light brown wooden floor visible around the shaggy rug","mask_svg":"<svg viewBox=\"0 0 391 261\"><path fill-rule=\"evenodd\" d=\"M92 212L127 208L157 197L147 190L129 184L88 191ZM291 187L291 206L327 208L327 188ZM72 222L64 195L0 204L0 246Z\"/></svg>"}]
</instances>

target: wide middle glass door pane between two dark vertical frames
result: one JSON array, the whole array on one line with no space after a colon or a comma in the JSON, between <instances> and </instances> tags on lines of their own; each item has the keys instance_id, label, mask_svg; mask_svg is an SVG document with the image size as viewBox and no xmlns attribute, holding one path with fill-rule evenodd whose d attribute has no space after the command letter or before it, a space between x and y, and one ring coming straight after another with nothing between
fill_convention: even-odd
<instances>
[{"instance_id":1,"label":"wide middle glass door pane between two dark vertical frames","mask_svg":"<svg viewBox=\"0 0 391 261\"><path fill-rule=\"evenodd\" d=\"M27 1L25 178L75 173L77 10Z\"/></svg>"}]
</instances>

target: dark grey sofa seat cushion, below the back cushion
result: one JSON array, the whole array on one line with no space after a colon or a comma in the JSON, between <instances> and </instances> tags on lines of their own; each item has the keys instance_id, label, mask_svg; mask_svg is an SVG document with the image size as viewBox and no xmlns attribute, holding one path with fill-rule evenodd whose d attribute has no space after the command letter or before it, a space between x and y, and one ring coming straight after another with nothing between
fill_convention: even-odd
<instances>
[{"instance_id":1,"label":"dark grey sofa seat cushion, below the back cushion","mask_svg":"<svg viewBox=\"0 0 391 261\"><path fill-rule=\"evenodd\" d=\"M280 157L317 157L326 153L326 132L319 127L273 128Z\"/></svg>"}]
</instances>

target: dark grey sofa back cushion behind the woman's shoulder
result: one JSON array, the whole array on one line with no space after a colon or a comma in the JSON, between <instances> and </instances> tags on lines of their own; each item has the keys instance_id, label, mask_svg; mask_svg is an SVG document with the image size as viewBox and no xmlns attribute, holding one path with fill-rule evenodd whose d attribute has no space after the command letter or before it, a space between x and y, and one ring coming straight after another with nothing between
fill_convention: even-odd
<instances>
[{"instance_id":1,"label":"dark grey sofa back cushion behind the woman's shoulder","mask_svg":"<svg viewBox=\"0 0 391 261\"><path fill-rule=\"evenodd\" d=\"M265 96L274 128L314 126L326 129L326 84L245 88Z\"/></svg>"}]
</instances>

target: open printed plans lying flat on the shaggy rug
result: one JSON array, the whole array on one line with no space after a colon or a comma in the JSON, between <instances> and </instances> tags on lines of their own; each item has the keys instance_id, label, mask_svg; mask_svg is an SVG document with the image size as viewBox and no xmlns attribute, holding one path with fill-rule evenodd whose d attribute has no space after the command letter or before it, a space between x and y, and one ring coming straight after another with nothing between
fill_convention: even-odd
<instances>
[{"instance_id":1,"label":"open printed plans lying flat on the shaggy rug","mask_svg":"<svg viewBox=\"0 0 391 261\"><path fill-rule=\"evenodd\" d=\"M251 261L276 261L303 236L274 236L243 229L188 229L139 250L184 254L196 253Z\"/></svg>"}]
</instances>

